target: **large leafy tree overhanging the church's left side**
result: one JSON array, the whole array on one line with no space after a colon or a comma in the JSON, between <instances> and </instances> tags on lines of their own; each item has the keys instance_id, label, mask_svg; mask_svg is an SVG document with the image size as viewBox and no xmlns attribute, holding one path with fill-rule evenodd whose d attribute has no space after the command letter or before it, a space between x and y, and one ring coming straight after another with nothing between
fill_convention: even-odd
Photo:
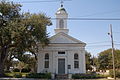
<instances>
[{"instance_id":1,"label":"large leafy tree overhanging the church's left side","mask_svg":"<svg viewBox=\"0 0 120 80\"><path fill-rule=\"evenodd\" d=\"M0 77L9 55L19 58L26 51L35 54L39 43L49 43L46 26L51 25L50 19L45 14L21 14L20 10L20 4L0 1Z\"/></svg>"}]
</instances>

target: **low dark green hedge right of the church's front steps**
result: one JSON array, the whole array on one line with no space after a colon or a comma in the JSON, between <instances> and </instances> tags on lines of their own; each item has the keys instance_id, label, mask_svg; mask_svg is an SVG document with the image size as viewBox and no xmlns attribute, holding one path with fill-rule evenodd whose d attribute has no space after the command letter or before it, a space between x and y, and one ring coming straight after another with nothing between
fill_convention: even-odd
<instances>
[{"instance_id":1,"label":"low dark green hedge right of the church's front steps","mask_svg":"<svg viewBox=\"0 0 120 80\"><path fill-rule=\"evenodd\" d=\"M95 74L95 73L86 73L86 74L73 74L73 79L98 79L104 78L103 75Z\"/></svg>"}]
</instances>

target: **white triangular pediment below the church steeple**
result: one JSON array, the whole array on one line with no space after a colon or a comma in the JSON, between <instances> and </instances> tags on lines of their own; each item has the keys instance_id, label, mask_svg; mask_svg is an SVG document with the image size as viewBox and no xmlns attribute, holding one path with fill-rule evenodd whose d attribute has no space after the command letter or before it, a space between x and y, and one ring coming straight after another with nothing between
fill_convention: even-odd
<instances>
[{"instance_id":1,"label":"white triangular pediment below the church steeple","mask_svg":"<svg viewBox=\"0 0 120 80\"><path fill-rule=\"evenodd\" d=\"M62 32L50 37L50 43L71 43L71 44L80 43L80 44L85 44L84 42L79 41L79 40L71 37L70 35L62 33Z\"/></svg>"}]
</instances>

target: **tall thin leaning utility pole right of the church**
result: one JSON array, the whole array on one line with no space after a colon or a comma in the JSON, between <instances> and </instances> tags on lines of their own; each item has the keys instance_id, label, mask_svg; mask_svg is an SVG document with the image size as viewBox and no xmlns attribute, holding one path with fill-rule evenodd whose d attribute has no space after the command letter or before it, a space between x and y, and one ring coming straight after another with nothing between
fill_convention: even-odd
<instances>
[{"instance_id":1,"label":"tall thin leaning utility pole right of the church","mask_svg":"<svg viewBox=\"0 0 120 80\"><path fill-rule=\"evenodd\" d=\"M113 32L112 32L112 24L110 24L110 32L108 33L111 37L111 43L112 43L112 62L113 62L113 75L114 80L116 80L116 74L115 74L115 57L114 57L114 42L113 42Z\"/></svg>"}]
</instances>

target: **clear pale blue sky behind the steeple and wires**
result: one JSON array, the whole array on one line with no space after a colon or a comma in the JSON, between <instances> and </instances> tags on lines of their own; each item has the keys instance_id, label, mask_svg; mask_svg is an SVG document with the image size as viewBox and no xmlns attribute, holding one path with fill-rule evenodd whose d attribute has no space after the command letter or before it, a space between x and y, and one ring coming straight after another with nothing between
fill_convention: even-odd
<instances>
[{"instance_id":1,"label":"clear pale blue sky behind the steeple and wires","mask_svg":"<svg viewBox=\"0 0 120 80\"><path fill-rule=\"evenodd\" d=\"M55 13L60 7L60 0L10 1L22 4L22 12L45 13L51 18L55 18ZM65 0L63 5L69 18L120 19L120 0ZM55 20L52 20L52 23L52 26L47 27L49 36L55 34ZM86 50L92 56L98 56L100 52L111 48L108 35L110 24L113 28L115 49L120 49L120 20L68 20L67 27L69 35L85 42Z\"/></svg>"}]
</instances>

